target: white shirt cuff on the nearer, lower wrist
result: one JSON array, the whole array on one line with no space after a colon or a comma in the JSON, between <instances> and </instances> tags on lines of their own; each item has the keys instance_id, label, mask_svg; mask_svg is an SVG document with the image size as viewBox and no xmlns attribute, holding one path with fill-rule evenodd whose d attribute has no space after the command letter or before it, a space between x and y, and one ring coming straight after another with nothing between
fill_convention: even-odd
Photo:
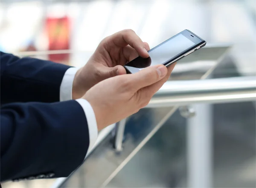
<instances>
[{"instance_id":1,"label":"white shirt cuff on the nearer, lower wrist","mask_svg":"<svg viewBox=\"0 0 256 188\"><path fill-rule=\"evenodd\" d=\"M95 117L92 106L90 105L90 103L87 100L77 99L76 101L84 109L84 114L87 119L89 139L90 139L89 148L87 150L87 154L88 154L92 150L93 145L95 144L97 137L98 137L98 128L97 128L96 117Z\"/></svg>"}]
</instances>

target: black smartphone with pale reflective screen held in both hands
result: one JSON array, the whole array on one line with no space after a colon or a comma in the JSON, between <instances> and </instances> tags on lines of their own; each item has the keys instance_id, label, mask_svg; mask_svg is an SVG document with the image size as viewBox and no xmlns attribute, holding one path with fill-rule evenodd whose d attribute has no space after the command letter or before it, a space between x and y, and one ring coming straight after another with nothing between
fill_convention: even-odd
<instances>
[{"instance_id":1,"label":"black smartphone with pale reflective screen held in both hands","mask_svg":"<svg viewBox=\"0 0 256 188\"><path fill-rule=\"evenodd\" d=\"M125 64L124 67L129 74L136 73L148 66L159 64L169 66L205 45L205 40L186 29L149 50L148 58L137 57Z\"/></svg>"}]
</instances>

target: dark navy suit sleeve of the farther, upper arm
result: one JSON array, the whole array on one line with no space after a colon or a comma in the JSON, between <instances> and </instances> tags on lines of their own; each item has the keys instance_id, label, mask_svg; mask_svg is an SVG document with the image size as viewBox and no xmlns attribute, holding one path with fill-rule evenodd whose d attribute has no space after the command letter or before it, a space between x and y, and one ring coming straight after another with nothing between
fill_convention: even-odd
<instances>
[{"instance_id":1,"label":"dark navy suit sleeve of the farther, upper arm","mask_svg":"<svg viewBox=\"0 0 256 188\"><path fill-rule=\"evenodd\" d=\"M60 101L60 86L70 66L0 52L1 104Z\"/></svg>"}]
</instances>

